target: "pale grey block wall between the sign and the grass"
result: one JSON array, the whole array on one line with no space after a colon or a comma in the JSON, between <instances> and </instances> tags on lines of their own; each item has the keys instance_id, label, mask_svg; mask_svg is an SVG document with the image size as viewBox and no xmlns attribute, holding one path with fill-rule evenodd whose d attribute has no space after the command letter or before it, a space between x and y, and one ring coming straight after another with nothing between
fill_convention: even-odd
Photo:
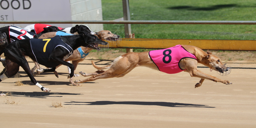
<instances>
[{"instance_id":1,"label":"pale grey block wall between the sign and the grass","mask_svg":"<svg viewBox=\"0 0 256 128\"><path fill-rule=\"evenodd\" d=\"M101 0L70 0L70 9L72 20L103 20ZM103 30L103 24L83 25L89 26L94 32Z\"/></svg>"}]
</instances>

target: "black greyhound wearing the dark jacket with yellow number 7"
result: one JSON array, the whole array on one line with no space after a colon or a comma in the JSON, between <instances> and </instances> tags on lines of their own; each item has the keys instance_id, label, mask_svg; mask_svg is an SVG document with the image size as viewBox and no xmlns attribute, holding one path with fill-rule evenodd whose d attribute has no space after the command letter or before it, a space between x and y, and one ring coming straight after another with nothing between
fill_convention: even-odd
<instances>
[{"instance_id":1,"label":"black greyhound wearing the dark jacket with yellow number 7","mask_svg":"<svg viewBox=\"0 0 256 128\"><path fill-rule=\"evenodd\" d=\"M59 46L59 44L51 50L51 53L49 54L48 59L46 60L46 63L55 63L55 65L66 65L71 69L71 73L69 74L68 78L71 78L74 76L74 65L70 64L63 59L67 57L67 55L70 54L68 49L71 48L71 50L75 50L80 46L89 47L92 49L98 49L98 44L100 45L107 45L108 43L105 41L100 40L95 35L87 35L86 33L81 33L79 35L70 35L70 36L55 36L53 38L49 39L23 39L23 40L16 40L13 43L9 44L4 50L0 51L0 54L5 55L5 68L2 75L0 76L0 82L4 79L10 78L14 76L19 71L19 67L21 66L25 72L28 74L31 82L33 82L36 86L38 86L42 91L44 92L50 92L50 89L44 88L42 85L40 85L35 78L33 77L33 74L30 71L28 61L25 59L25 56L29 56L34 61L40 61L40 58L38 56L35 56L32 42L35 41L43 41L42 49L39 49L38 51L42 51L40 54L45 54L44 52L47 51L48 45L51 45L51 43L56 42L54 41L55 38L60 38L60 41L57 41L57 43L60 43L61 40L63 41L64 45L68 45L67 47ZM51 40L53 42L51 42ZM69 47L69 48L68 48ZM99 49L98 49L99 50ZM39 54L39 55L40 55ZM44 65L44 64L42 64ZM55 66L54 65L54 66ZM50 69L45 69L44 72L54 72L55 68L54 66L46 65L46 67L53 67Z\"/></svg>"}]
</instances>

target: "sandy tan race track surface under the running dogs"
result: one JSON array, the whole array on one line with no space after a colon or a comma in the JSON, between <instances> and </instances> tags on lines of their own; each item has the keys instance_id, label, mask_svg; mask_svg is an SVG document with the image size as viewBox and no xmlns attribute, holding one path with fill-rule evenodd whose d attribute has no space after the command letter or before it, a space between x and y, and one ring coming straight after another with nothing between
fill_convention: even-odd
<instances>
[{"instance_id":1,"label":"sandy tan race track surface under the running dogs","mask_svg":"<svg viewBox=\"0 0 256 128\"><path fill-rule=\"evenodd\" d=\"M29 61L31 68L34 64ZM194 86L200 78L188 73L166 74L145 67L137 67L122 78L99 79L74 87L67 79L67 67L61 66L57 69L59 78L53 73L35 77L51 89L50 93L33 85L20 68L19 75L0 83L0 92L9 94L0 97L0 127L255 128L256 63L228 61L227 65L233 68L227 76L198 66L207 74L230 80L232 85L205 80L199 88ZM96 69L86 59L78 65L79 71ZM18 81L24 85L16 85Z\"/></svg>"}]
</instances>

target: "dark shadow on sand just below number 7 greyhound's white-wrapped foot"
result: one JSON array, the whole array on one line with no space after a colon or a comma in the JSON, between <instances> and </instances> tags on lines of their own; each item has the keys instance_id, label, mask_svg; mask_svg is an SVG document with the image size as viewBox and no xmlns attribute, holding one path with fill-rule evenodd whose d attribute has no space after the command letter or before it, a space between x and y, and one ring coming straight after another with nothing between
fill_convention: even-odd
<instances>
[{"instance_id":1,"label":"dark shadow on sand just below number 7 greyhound's white-wrapped foot","mask_svg":"<svg viewBox=\"0 0 256 128\"><path fill-rule=\"evenodd\" d=\"M3 92L13 97L33 97L33 98L47 98L47 97L63 97L58 95L82 95L79 93L45 93L45 92Z\"/></svg>"}]
</instances>

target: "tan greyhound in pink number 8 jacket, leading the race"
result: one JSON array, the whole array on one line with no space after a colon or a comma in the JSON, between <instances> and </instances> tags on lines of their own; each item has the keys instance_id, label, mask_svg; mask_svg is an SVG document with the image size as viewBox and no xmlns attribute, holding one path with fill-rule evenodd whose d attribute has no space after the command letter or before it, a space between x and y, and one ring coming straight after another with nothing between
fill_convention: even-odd
<instances>
[{"instance_id":1,"label":"tan greyhound in pink number 8 jacket, leading the race","mask_svg":"<svg viewBox=\"0 0 256 128\"><path fill-rule=\"evenodd\" d=\"M227 75L231 72L231 67L222 64L220 58L212 55L210 51L205 52L202 49L197 48L196 46L189 45L176 45L175 47L179 47L179 49L177 50L178 53L175 53L175 49L171 48L159 50L160 55L155 54L157 52L154 52L158 50L153 50L153 52L145 51L142 53L127 53L117 57L112 64L105 67L98 67L92 61L93 66L97 68L98 71L93 73L79 72L84 77L90 75L93 76L84 80L76 80L75 83L84 83L97 79L123 77L125 74L131 72L131 70L135 67L145 66L169 74L179 73L182 71L188 72L191 77L201 78L200 82L195 85L195 88L200 87L205 79L212 80L214 82L221 82L223 84L232 84L228 80L218 79L211 75L205 74L197 69L197 63L201 63L213 70L216 70L221 75ZM181 53L180 51L182 50L184 53L189 55L181 56L181 54L183 53ZM176 56L181 57L178 58ZM169 67L170 65L176 68ZM104 71L103 69L108 70Z\"/></svg>"}]
</instances>

